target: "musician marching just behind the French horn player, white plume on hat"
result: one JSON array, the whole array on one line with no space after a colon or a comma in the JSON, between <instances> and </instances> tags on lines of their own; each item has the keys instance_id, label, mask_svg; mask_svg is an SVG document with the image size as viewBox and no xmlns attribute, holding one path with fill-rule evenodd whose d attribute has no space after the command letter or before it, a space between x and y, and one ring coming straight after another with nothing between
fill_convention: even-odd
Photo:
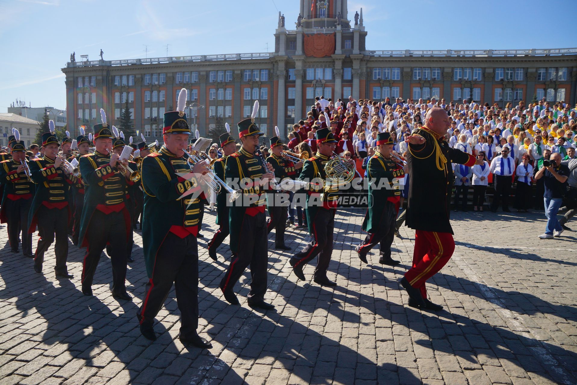
<instances>
[{"instance_id":1,"label":"musician marching just behind the French horn player, white plume on hat","mask_svg":"<svg viewBox=\"0 0 577 385\"><path fill-rule=\"evenodd\" d=\"M283 142L280 140L278 127L275 127L276 137L272 137L271 141L271 156L267 158L267 162L272 165L275 171L275 177L282 182L286 178L294 178L297 175L297 169L302 168L302 161L294 164L290 160L282 157ZM280 199L275 199L279 195L284 195L286 198L286 205L280 206L278 203ZM280 198L280 197L279 197ZM284 244L284 230L286 229L288 218L288 192L279 192L269 190L267 192L267 209L271 216L267 221L267 232L275 229L275 248L279 250L291 250L290 247Z\"/></svg>"}]
</instances>

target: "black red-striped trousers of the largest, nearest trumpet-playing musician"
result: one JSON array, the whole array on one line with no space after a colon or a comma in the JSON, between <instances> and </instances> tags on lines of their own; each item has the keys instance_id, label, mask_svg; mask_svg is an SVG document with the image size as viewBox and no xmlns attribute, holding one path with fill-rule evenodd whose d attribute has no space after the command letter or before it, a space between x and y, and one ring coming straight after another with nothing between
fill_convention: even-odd
<instances>
[{"instance_id":1,"label":"black red-striped trousers of the largest, nearest trumpet-playing musician","mask_svg":"<svg viewBox=\"0 0 577 385\"><path fill-rule=\"evenodd\" d=\"M152 329L154 318L173 283L181 312L181 337L195 337L198 327L198 244L192 234L181 238L168 233L156 253L152 278L146 284L144 301L137 311L141 325Z\"/></svg>"}]
</instances>

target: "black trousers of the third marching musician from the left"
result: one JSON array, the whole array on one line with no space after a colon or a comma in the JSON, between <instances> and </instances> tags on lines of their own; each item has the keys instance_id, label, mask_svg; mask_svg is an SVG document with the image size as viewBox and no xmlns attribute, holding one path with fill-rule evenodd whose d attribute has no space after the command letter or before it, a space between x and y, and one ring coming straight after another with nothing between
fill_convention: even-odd
<instances>
[{"instance_id":1,"label":"black trousers of the third marching musician from the left","mask_svg":"<svg viewBox=\"0 0 577 385\"><path fill-rule=\"evenodd\" d=\"M99 210L94 210L84 236L88 240L88 247L82 269L83 292L91 290L96 266L105 247L112 263L112 292L125 292L126 223L124 213L104 214Z\"/></svg>"}]
</instances>

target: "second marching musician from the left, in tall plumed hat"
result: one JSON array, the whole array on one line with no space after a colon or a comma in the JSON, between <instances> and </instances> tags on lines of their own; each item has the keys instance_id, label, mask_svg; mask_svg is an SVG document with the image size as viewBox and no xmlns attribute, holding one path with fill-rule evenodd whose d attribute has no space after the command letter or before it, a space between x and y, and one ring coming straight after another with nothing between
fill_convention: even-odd
<instances>
[{"instance_id":1,"label":"second marching musician from the left, in tall plumed hat","mask_svg":"<svg viewBox=\"0 0 577 385\"><path fill-rule=\"evenodd\" d=\"M44 156L30 161L29 168L36 191L28 214L28 232L33 233L38 225L38 246L34 258L34 271L42 273L44 252L56 239L54 254L57 277L72 278L66 268L68 258L68 220L72 207L69 205L68 185L77 182L67 175L61 165L65 159L58 156L60 144L54 134L54 122L48 123L50 132L42 134Z\"/></svg>"}]
</instances>

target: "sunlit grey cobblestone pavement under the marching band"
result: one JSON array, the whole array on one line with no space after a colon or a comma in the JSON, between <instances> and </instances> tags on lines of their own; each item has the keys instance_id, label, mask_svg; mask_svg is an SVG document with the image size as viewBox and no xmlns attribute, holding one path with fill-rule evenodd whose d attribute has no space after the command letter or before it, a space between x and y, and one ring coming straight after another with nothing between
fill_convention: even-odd
<instances>
[{"instance_id":1,"label":"sunlit grey cobblestone pavement under the marching band","mask_svg":"<svg viewBox=\"0 0 577 385\"><path fill-rule=\"evenodd\" d=\"M199 333L213 345L204 351L178 341L174 290L157 317L159 339L140 335L135 313L147 280L140 247L128 270L132 302L111 296L106 255L95 297L87 298L83 251L70 244L72 280L55 279L52 249L44 275L36 274L31 259L9 252L4 228L0 384L577 383L577 232L539 240L542 213L453 213L455 254L428 284L432 301L446 309L434 314L407 307L397 282L410 266L414 232L405 227L395 238L402 265L381 266L373 253L361 266L351 245L361 238L363 215L339 210L336 217L328 274L335 288L297 282L290 255L269 251L266 299L276 312L248 307L248 272L236 286L241 306L227 305L218 283L230 251L220 247L213 263L202 239ZM211 236L213 214L205 221ZM304 236L289 232L287 241L296 250ZM141 244L140 235L135 240ZM308 278L313 268L306 267Z\"/></svg>"}]
</instances>

